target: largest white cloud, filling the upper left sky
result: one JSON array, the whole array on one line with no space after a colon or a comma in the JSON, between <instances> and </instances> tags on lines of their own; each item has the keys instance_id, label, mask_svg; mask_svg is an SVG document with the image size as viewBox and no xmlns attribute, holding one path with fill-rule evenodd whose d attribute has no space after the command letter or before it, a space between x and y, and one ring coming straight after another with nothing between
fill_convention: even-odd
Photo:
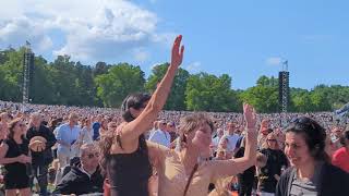
<instances>
[{"instance_id":1,"label":"largest white cloud, filling the upper left sky","mask_svg":"<svg viewBox=\"0 0 349 196\"><path fill-rule=\"evenodd\" d=\"M127 0L12 0L0 7L0 47L29 40L34 50L68 53L74 60L128 56L145 61L149 56L146 46L168 45L174 37L159 33L158 21L155 13ZM50 36L55 30L62 33L63 44L55 45L58 40Z\"/></svg>"}]
</instances>

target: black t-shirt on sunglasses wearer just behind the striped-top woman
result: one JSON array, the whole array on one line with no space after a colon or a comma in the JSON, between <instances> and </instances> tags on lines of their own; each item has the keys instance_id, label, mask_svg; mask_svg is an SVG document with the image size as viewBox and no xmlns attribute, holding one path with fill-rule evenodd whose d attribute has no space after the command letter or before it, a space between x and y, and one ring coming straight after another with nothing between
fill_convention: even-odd
<instances>
[{"instance_id":1,"label":"black t-shirt on sunglasses wearer just behind the striped-top woman","mask_svg":"<svg viewBox=\"0 0 349 196\"><path fill-rule=\"evenodd\" d=\"M267 162L264 168L261 168L258 174L260 191L275 193L277 180L275 174L281 174L281 168L288 166L288 160L284 151L273 150L270 148L262 149L261 152L267 157Z\"/></svg>"}]
</instances>

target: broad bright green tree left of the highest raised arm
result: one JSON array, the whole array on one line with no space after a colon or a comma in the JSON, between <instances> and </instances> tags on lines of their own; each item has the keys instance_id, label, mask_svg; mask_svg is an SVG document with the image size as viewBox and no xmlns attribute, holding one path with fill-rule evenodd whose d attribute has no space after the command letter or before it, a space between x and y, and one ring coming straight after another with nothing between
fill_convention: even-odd
<instances>
[{"instance_id":1,"label":"broad bright green tree left of the highest raised arm","mask_svg":"<svg viewBox=\"0 0 349 196\"><path fill-rule=\"evenodd\" d=\"M119 107L131 93L144 90L144 72L140 66L120 63L95 78L97 96L106 107Z\"/></svg>"}]
</instances>

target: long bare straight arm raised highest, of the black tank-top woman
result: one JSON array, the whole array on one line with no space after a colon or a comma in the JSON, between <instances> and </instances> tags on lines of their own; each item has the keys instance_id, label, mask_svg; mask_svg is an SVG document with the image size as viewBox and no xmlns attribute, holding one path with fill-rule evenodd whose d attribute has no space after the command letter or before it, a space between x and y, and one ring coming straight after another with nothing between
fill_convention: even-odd
<instances>
[{"instance_id":1,"label":"long bare straight arm raised highest, of the black tank-top woman","mask_svg":"<svg viewBox=\"0 0 349 196\"><path fill-rule=\"evenodd\" d=\"M121 140L123 143L131 143L139 138L139 136L148 131L153 122L156 120L158 113L166 103L167 97L170 93L173 78L179 65L183 60L184 47L181 46L182 36L178 36L173 42L171 64L169 65L164 78L154 91L142 113L132 122L127 123L121 130Z\"/></svg>"}]
</instances>

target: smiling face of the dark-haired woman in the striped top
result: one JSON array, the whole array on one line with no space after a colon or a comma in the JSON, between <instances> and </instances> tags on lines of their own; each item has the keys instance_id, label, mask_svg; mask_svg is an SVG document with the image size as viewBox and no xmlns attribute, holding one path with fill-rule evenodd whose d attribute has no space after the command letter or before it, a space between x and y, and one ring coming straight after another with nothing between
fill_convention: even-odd
<instances>
[{"instance_id":1,"label":"smiling face of the dark-haired woman in the striped top","mask_svg":"<svg viewBox=\"0 0 349 196\"><path fill-rule=\"evenodd\" d=\"M314 161L302 134L286 133L285 154L296 168Z\"/></svg>"}]
</instances>

